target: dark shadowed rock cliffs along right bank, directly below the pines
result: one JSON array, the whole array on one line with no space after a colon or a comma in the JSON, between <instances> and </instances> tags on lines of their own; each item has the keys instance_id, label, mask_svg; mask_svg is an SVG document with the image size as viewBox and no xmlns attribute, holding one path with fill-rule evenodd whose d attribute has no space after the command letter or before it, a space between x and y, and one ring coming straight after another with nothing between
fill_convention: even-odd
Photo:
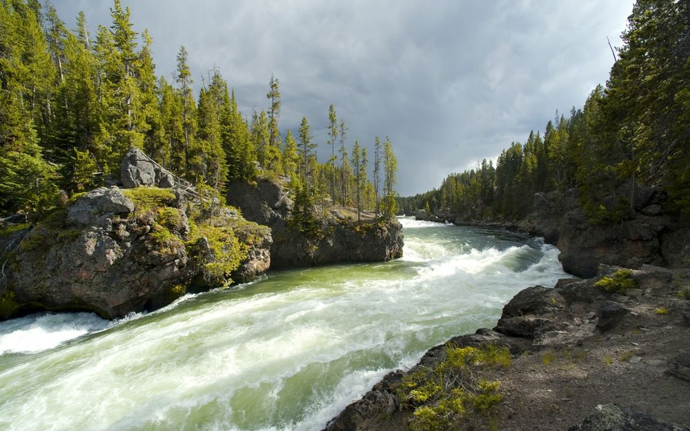
<instances>
[{"instance_id":1,"label":"dark shadowed rock cliffs along right bank, directly below the pines","mask_svg":"<svg viewBox=\"0 0 690 431\"><path fill-rule=\"evenodd\" d=\"M563 269L578 277L593 277L600 263L626 268L690 268L690 223L670 208L667 194L659 188L638 188L633 210L615 223L590 221L575 190L535 194L533 212L521 220L475 220L424 210L415 212L415 217L457 225L502 226L544 237L560 250Z\"/></svg>"}]
</instances>

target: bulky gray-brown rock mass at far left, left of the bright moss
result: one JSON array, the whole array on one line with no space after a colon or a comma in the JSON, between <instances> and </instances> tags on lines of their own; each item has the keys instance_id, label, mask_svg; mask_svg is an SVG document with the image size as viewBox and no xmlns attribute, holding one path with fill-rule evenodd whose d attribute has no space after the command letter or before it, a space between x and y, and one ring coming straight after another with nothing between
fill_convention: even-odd
<instances>
[{"instance_id":1,"label":"bulky gray-brown rock mass at far left, left of the bright moss","mask_svg":"<svg viewBox=\"0 0 690 431\"><path fill-rule=\"evenodd\" d=\"M154 219L129 217L133 210L116 187L99 188L39 223L17 252L16 301L108 319L152 308L184 279L188 256L181 239L159 243L149 235Z\"/></svg>"}]
</instances>

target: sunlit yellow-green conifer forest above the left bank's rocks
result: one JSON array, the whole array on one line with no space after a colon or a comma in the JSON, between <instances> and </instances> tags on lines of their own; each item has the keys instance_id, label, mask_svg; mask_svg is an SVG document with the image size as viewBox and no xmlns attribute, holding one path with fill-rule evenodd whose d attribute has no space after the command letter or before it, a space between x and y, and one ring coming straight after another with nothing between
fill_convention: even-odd
<instances>
[{"instance_id":1,"label":"sunlit yellow-green conifer forest above the left bank's rocks","mask_svg":"<svg viewBox=\"0 0 690 431\"><path fill-rule=\"evenodd\" d=\"M131 146L218 199L229 181L288 177L299 208L330 199L395 213L389 139L375 139L373 157L357 141L349 152L346 124L331 105L331 157L319 163L306 118L297 137L281 136L278 79L270 77L259 112L239 111L217 69L195 97L184 46L170 82L156 74L148 31L135 32L120 0L110 12L110 26L92 35L83 13L71 31L50 3L0 0L0 217L40 215L116 182Z\"/></svg>"}]
</instances>

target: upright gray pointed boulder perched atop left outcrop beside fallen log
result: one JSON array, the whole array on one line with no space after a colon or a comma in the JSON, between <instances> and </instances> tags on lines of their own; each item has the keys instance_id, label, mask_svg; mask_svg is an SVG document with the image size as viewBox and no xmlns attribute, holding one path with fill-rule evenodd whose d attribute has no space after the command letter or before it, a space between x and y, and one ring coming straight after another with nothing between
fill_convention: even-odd
<instances>
[{"instance_id":1,"label":"upright gray pointed boulder perched atop left outcrop beside fallen log","mask_svg":"<svg viewBox=\"0 0 690 431\"><path fill-rule=\"evenodd\" d=\"M122 159L120 178L124 188L139 186L172 188L176 183L174 175L136 147L130 148Z\"/></svg>"}]
</instances>

